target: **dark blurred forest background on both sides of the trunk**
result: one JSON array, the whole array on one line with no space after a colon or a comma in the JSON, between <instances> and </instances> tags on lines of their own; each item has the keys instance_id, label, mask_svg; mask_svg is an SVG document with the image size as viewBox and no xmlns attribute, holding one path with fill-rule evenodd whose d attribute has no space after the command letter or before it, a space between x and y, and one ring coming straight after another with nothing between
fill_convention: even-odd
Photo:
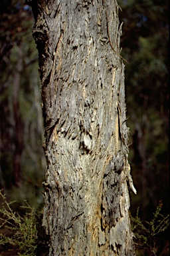
<instances>
[{"instance_id":1,"label":"dark blurred forest background on both sides of the trunk","mask_svg":"<svg viewBox=\"0 0 170 256\"><path fill-rule=\"evenodd\" d=\"M119 0L126 64L129 163L137 195L131 215L153 217L161 201L169 213L169 1ZM0 3L0 189L19 204L43 204L46 160L42 150L38 53L34 18L24 0ZM159 237L164 247L167 232ZM161 255L161 254L160 254Z\"/></svg>"}]
</instances>

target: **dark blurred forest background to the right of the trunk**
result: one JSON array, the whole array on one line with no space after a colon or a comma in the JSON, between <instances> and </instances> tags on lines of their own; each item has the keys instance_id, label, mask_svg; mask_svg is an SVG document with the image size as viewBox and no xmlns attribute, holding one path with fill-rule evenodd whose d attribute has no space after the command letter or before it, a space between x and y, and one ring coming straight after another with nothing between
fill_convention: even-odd
<instances>
[{"instance_id":1,"label":"dark blurred forest background to the right of the trunk","mask_svg":"<svg viewBox=\"0 0 170 256\"><path fill-rule=\"evenodd\" d=\"M121 54L129 62L129 163L138 192L131 195L131 213L140 205L141 218L148 219L160 199L163 214L169 212L169 5L167 0L118 3L124 23Z\"/></svg>"}]
</instances>

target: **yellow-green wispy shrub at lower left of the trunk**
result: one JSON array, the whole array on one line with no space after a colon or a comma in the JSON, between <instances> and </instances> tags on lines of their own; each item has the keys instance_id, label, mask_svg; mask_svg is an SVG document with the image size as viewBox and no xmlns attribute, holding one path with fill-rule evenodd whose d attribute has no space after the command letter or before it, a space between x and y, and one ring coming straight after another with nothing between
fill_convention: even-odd
<instances>
[{"instance_id":1,"label":"yellow-green wispy shrub at lower left of the trunk","mask_svg":"<svg viewBox=\"0 0 170 256\"><path fill-rule=\"evenodd\" d=\"M10 236L0 233L0 245L9 243L17 250L20 256L34 256L38 245L35 208L25 201L26 206L21 206L21 208L26 213L21 216L11 208L11 204L15 201L8 203L2 190L0 191L0 196L3 199L0 208L0 219L2 221L0 229L5 228L8 234L11 233Z\"/></svg>"}]
</instances>

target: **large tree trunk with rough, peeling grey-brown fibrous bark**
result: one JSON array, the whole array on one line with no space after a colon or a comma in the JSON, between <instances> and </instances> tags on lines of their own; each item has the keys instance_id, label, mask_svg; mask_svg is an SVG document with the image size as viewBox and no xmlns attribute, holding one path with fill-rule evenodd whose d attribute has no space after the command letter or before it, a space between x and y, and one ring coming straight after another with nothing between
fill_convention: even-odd
<instances>
[{"instance_id":1,"label":"large tree trunk with rough, peeling grey-brown fibrous bark","mask_svg":"<svg viewBox=\"0 0 170 256\"><path fill-rule=\"evenodd\" d=\"M135 189L128 165L118 4L34 3L49 255L134 255L128 180Z\"/></svg>"}]
</instances>

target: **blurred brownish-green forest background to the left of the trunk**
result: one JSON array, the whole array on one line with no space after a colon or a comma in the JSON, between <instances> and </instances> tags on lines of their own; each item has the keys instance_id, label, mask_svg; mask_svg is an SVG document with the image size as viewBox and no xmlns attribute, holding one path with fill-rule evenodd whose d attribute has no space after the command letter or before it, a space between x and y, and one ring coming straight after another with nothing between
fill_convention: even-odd
<instances>
[{"instance_id":1,"label":"blurred brownish-green forest background to the left of the trunk","mask_svg":"<svg viewBox=\"0 0 170 256\"><path fill-rule=\"evenodd\" d=\"M0 188L34 189L46 167L34 18L25 0L1 0L0 14Z\"/></svg>"}]
</instances>

